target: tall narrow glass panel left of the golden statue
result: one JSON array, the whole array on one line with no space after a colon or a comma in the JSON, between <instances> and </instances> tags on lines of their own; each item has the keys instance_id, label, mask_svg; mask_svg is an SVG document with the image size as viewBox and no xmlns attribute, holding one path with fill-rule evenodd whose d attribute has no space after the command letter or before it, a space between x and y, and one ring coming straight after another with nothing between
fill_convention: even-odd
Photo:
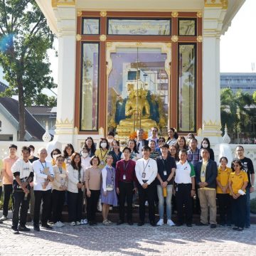
<instances>
[{"instance_id":1,"label":"tall narrow glass panel left of the golden statue","mask_svg":"<svg viewBox=\"0 0 256 256\"><path fill-rule=\"evenodd\" d=\"M82 44L82 87L80 129L98 129L99 44Z\"/></svg>"}]
</instances>

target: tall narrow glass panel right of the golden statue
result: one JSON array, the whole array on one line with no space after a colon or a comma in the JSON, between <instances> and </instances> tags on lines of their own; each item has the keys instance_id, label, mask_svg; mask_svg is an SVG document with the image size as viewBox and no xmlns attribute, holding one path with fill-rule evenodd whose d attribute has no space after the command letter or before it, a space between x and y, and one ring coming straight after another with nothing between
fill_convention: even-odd
<instances>
[{"instance_id":1,"label":"tall narrow glass panel right of the golden statue","mask_svg":"<svg viewBox=\"0 0 256 256\"><path fill-rule=\"evenodd\" d=\"M178 131L196 131L196 53L195 45L180 44L178 80Z\"/></svg>"}]
</instances>

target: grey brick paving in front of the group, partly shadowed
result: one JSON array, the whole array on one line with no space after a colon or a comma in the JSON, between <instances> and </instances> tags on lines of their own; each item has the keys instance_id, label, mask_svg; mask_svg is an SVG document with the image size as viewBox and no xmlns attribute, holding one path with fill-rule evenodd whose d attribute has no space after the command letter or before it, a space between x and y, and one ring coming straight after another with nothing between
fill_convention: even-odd
<instances>
[{"instance_id":1,"label":"grey brick paving in front of the group, partly shadowed","mask_svg":"<svg viewBox=\"0 0 256 256\"><path fill-rule=\"evenodd\" d=\"M80 225L14 235L0 225L0 255L256 255L256 225L230 228ZM32 228L31 223L28 227Z\"/></svg>"}]
</instances>

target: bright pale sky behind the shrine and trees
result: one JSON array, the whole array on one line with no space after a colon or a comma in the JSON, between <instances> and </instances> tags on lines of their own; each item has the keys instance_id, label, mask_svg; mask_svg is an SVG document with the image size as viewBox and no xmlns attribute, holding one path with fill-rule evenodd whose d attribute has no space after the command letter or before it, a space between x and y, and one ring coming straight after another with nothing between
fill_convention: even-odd
<instances>
[{"instance_id":1,"label":"bright pale sky behind the shrine and trees","mask_svg":"<svg viewBox=\"0 0 256 256\"><path fill-rule=\"evenodd\" d=\"M256 0L246 0L238 14L233 18L231 26L225 35L220 37L220 72L221 73L250 73L252 63L256 67ZM58 41L55 40L58 50ZM48 50L53 71L53 79L58 83L58 57L55 50ZM0 81L3 75L0 69ZM55 90L56 92L56 90ZM53 95L51 92L48 92Z\"/></svg>"}]
</instances>

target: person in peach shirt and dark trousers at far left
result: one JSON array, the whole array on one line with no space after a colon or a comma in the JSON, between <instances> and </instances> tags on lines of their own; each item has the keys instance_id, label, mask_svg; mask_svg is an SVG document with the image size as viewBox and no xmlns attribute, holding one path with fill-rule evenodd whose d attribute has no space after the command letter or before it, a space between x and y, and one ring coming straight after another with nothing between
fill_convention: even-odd
<instances>
[{"instance_id":1,"label":"person in peach shirt and dark trousers at far left","mask_svg":"<svg viewBox=\"0 0 256 256\"><path fill-rule=\"evenodd\" d=\"M3 186L4 186L4 206L3 206L3 216L0 220L7 220L8 216L8 207L9 201L12 197L13 192L13 181L14 175L11 172L11 166L17 161L18 156L16 156L17 146L11 144L9 146L9 156L3 159L3 169L1 171L1 176L3 176ZM12 198L13 206L14 206L14 198Z\"/></svg>"}]
</instances>

